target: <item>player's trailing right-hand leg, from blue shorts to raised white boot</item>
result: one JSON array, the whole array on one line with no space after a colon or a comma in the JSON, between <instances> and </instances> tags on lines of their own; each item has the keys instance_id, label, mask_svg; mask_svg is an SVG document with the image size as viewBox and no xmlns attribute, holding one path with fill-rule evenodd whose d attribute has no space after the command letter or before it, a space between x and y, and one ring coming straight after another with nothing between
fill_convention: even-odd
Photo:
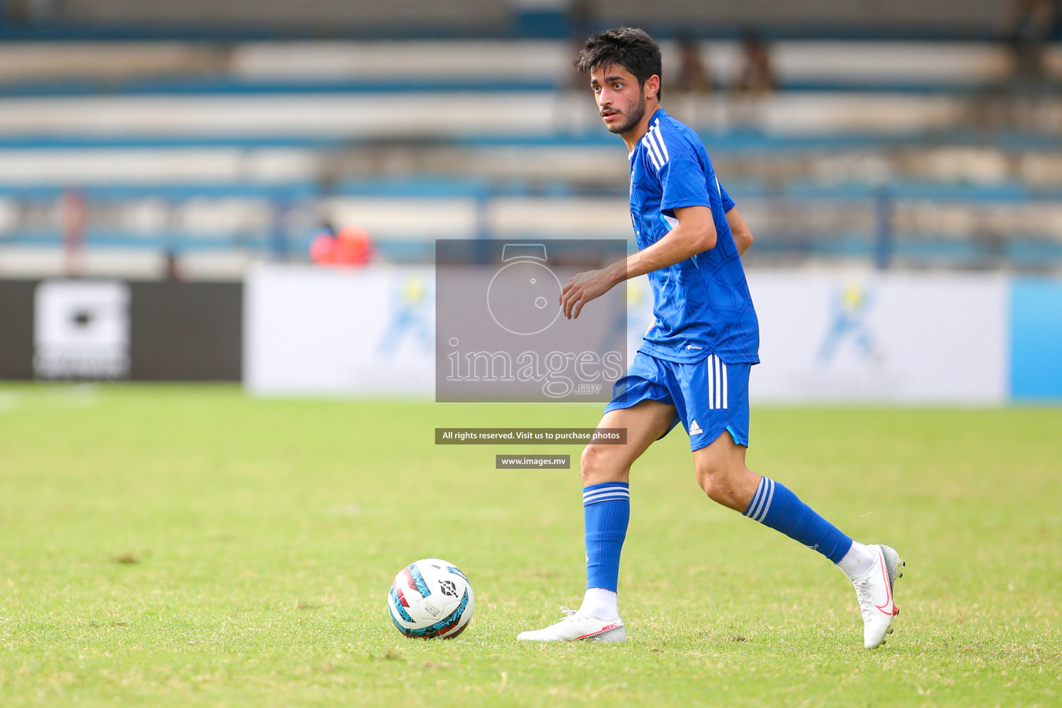
<instances>
[{"instance_id":1,"label":"player's trailing right-hand leg, from blue shorts to raised white boot","mask_svg":"<svg viewBox=\"0 0 1062 708\"><path fill-rule=\"evenodd\" d=\"M856 588L863 618L863 645L873 649L885 643L886 634L892 632L892 618L900 612L893 602L892 586L902 575L898 569L904 562L888 546L863 546L849 538L785 485L746 466L750 367L726 366L712 358L708 361L709 382L703 390L716 395L708 405L703 397L692 404L687 399L686 403L687 408L697 409L688 411L688 416L696 414L708 421L703 426L707 433L703 441L690 437L701 488L714 501L786 534L834 562Z\"/></svg>"}]
</instances>

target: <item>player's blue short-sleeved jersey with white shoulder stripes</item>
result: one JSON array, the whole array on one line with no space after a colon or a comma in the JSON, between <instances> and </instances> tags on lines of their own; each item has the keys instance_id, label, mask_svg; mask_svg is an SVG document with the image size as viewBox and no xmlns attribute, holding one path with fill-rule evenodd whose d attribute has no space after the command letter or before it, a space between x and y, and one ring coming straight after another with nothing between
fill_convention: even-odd
<instances>
[{"instance_id":1,"label":"player's blue short-sleeved jersey with white shoulder stripes","mask_svg":"<svg viewBox=\"0 0 1062 708\"><path fill-rule=\"evenodd\" d=\"M691 206L712 209L716 246L649 274L655 322L638 350L680 363L710 353L732 364L758 363L759 324L726 223L734 201L701 139L661 108L631 153L631 222L638 248L664 238L679 223L674 210Z\"/></svg>"}]
</instances>

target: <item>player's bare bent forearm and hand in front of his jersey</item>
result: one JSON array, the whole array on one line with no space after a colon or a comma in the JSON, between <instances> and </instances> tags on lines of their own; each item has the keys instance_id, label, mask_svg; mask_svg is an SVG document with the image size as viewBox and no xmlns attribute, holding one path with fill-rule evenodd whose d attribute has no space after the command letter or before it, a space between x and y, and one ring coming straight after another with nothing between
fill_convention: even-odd
<instances>
[{"instance_id":1,"label":"player's bare bent forearm and hand in front of his jersey","mask_svg":"<svg viewBox=\"0 0 1062 708\"><path fill-rule=\"evenodd\" d=\"M678 226L647 248L598 271L580 273L561 291L561 307L568 320L578 317L583 306L623 280L681 263L716 247L716 224L705 206L674 209Z\"/></svg>"}]
</instances>

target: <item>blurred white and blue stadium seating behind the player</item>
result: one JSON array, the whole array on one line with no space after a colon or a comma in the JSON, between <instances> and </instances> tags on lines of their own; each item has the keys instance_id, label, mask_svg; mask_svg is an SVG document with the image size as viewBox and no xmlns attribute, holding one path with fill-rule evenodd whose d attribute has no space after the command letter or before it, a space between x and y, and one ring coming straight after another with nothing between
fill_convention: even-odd
<instances>
[{"instance_id":1,"label":"blurred white and blue stadium seating behind the player","mask_svg":"<svg viewBox=\"0 0 1062 708\"><path fill-rule=\"evenodd\" d=\"M515 15L556 3L431 3L417 15L436 27L426 38L394 29L408 3L362 3L358 28L388 37L374 40L241 38L230 28L251 4L174 14L81 0L63 5L82 22L75 40L0 44L0 272L61 270L70 213L84 214L100 272L156 273L167 254L219 264L186 269L193 276L305 259L324 223L367 229L391 260L428 259L435 238L629 236L622 146L573 76L570 41L502 36ZM254 8L259 27L290 22L299 36L342 4L307 3L297 21L287 3ZM665 105L701 132L759 237L754 257L867 261L884 241L901 262L1062 264L1062 101L1049 89L1062 46L1047 46L1047 88L1030 93L1012 81L1008 47L986 40L998 3L901 2L877 15L811 4L746 8L765 27L794 13L788 38L770 45L776 88L763 96L733 89L741 45L725 30L696 45L708 91L669 89L682 46L663 45ZM595 21L736 17L681 1L654 3L653 17L639 7L611 3ZM827 16L829 36L799 36ZM142 20L143 36L84 30L116 18ZM478 24L459 32L469 18ZM910 32L912 18L932 31ZM870 27L877 38L859 38ZM151 28L187 36L148 40Z\"/></svg>"}]
</instances>

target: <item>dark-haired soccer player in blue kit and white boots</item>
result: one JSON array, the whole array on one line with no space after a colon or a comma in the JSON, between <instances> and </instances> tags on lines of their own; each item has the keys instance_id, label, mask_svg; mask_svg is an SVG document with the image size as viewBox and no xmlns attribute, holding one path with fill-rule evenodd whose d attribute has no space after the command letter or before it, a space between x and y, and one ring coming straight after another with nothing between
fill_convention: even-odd
<instances>
[{"instance_id":1,"label":"dark-haired soccer player in blue kit and white boots","mask_svg":"<svg viewBox=\"0 0 1062 708\"><path fill-rule=\"evenodd\" d=\"M680 421L708 498L818 551L852 581L863 645L885 643L900 612L892 586L904 563L888 546L852 540L781 482L744 464L749 370L759 329L740 256L752 234L726 194L697 134L660 106L661 52L631 28L593 35L576 62L588 73L605 126L630 151L631 221L639 251L571 278L566 317L627 278L649 275L655 321L604 409L601 428L626 428L626 445L583 450L586 594L556 624L527 641L623 641L616 599L630 518L631 465Z\"/></svg>"}]
</instances>

